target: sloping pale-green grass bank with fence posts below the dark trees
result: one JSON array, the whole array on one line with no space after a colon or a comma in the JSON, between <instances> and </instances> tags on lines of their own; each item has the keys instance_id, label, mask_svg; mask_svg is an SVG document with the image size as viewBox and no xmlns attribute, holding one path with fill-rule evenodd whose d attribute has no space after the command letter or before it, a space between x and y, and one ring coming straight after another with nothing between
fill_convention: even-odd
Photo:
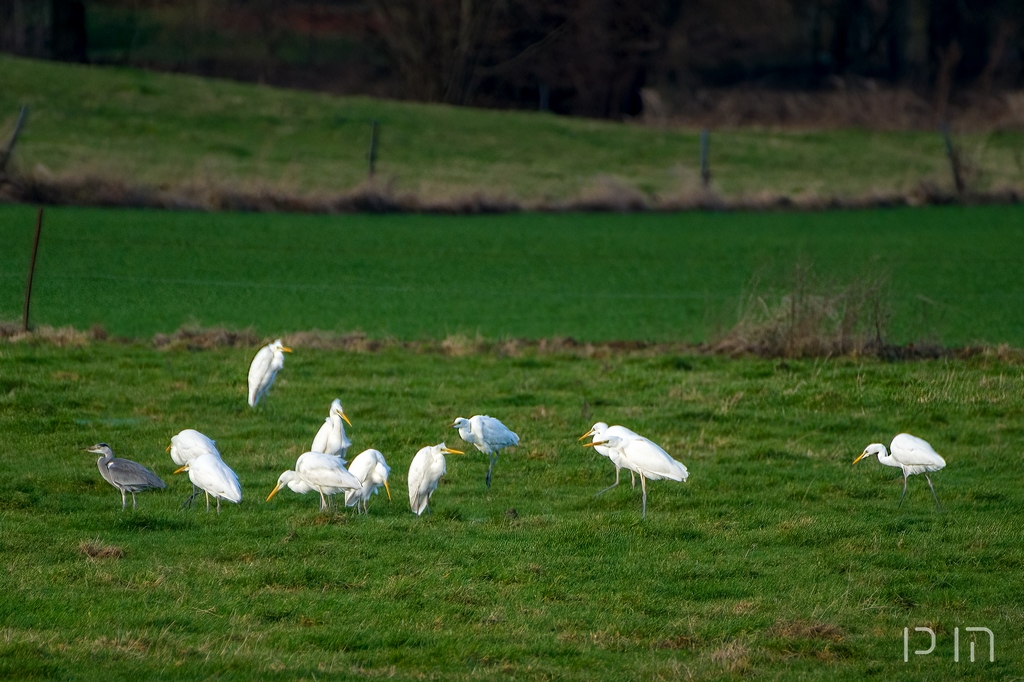
<instances>
[{"instance_id":1,"label":"sloping pale-green grass bank with fence posts below the dark trees","mask_svg":"<svg viewBox=\"0 0 1024 682\"><path fill-rule=\"evenodd\" d=\"M42 176L341 193L366 178L377 120L380 176L433 200L477 190L561 200L601 186L604 176L662 197L698 185L695 131L0 55L0 132L9 133L23 104L31 113L16 161ZM961 137L973 186L1019 184L1015 150L1022 140L1019 132ZM714 131L712 172L727 197L891 195L923 182L951 187L942 139L933 132Z\"/></svg>"}]
</instances>

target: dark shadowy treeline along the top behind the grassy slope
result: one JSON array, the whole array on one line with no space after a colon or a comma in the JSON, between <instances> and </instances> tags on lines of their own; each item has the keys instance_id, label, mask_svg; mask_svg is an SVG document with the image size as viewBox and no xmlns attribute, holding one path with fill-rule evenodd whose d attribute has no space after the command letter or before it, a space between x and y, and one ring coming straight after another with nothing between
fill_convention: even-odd
<instances>
[{"instance_id":1,"label":"dark shadowy treeline along the top behind the grassy slope","mask_svg":"<svg viewBox=\"0 0 1024 682\"><path fill-rule=\"evenodd\" d=\"M707 89L1017 88L1020 0L3 0L0 49L622 118Z\"/></svg>"}]
</instances>

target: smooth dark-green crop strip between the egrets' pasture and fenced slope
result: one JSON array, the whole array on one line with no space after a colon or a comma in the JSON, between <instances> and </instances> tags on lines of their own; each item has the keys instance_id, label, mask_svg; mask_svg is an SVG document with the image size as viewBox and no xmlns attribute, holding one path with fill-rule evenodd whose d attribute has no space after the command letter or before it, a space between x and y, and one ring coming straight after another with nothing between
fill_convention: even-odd
<instances>
[{"instance_id":1,"label":"smooth dark-green crop strip between the egrets' pasture and fenced slope","mask_svg":"<svg viewBox=\"0 0 1024 682\"><path fill-rule=\"evenodd\" d=\"M0 319L20 317L35 211L0 207ZM1019 207L834 213L302 216L47 209L36 325L148 336L572 336L710 341L800 265L883 282L890 342L1024 346ZM809 295L827 293L811 288Z\"/></svg>"}]
</instances>

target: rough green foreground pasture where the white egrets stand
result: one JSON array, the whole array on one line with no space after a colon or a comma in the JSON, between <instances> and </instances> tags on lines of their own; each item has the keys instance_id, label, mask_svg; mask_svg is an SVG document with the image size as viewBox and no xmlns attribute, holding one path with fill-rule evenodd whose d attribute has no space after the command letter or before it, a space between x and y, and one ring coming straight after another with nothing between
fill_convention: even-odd
<instances>
[{"instance_id":1,"label":"rough green foreground pasture where the white egrets stand","mask_svg":"<svg viewBox=\"0 0 1024 682\"><path fill-rule=\"evenodd\" d=\"M706 356L447 357L297 349L264 406L250 350L0 346L0 676L9 679L1020 679L1024 372L995 356L883 364ZM391 463L390 503L317 512L264 498L341 396L353 452ZM434 513L409 512L416 450L453 417L522 444L483 485L450 456ZM598 420L650 435L685 484L609 484L577 443ZM216 438L243 503L180 510L164 452ZM945 509L868 442L926 436ZM122 513L80 449L109 441L169 489ZM513 514L510 510L514 509ZM81 547L120 550L90 558ZM903 628L938 646L903 663ZM995 634L987 642L967 627ZM961 629L961 660L952 632ZM927 646L916 634L911 648Z\"/></svg>"}]
</instances>

